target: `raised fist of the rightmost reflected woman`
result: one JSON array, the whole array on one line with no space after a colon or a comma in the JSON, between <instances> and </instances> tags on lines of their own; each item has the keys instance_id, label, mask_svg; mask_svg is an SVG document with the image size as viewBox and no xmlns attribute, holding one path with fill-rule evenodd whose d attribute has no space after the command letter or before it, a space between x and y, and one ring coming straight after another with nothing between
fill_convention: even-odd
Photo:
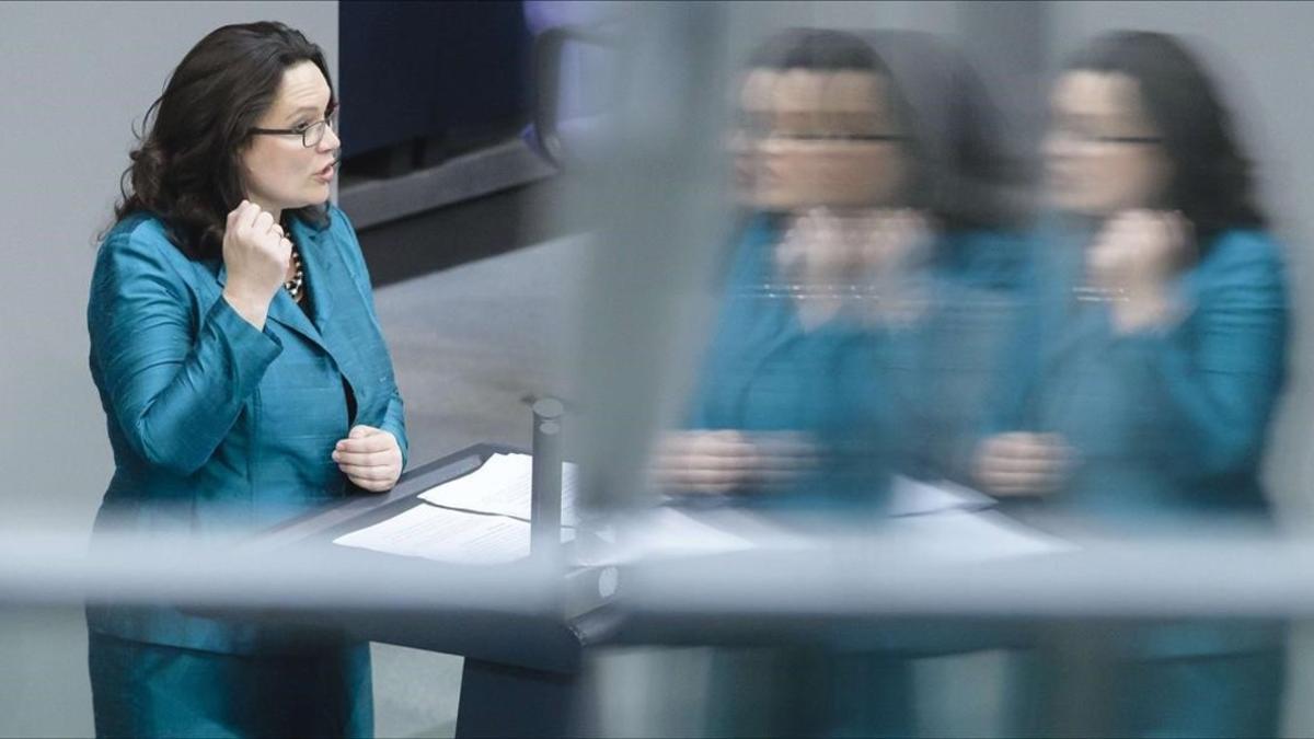
<instances>
[{"instance_id":1,"label":"raised fist of the rightmost reflected woman","mask_svg":"<svg viewBox=\"0 0 1314 739\"><path fill-rule=\"evenodd\" d=\"M1112 296L1121 333L1162 326L1179 313L1169 284L1196 259L1181 213L1127 210L1105 224L1087 250L1087 279Z\"/></svg>"}]
</instances>

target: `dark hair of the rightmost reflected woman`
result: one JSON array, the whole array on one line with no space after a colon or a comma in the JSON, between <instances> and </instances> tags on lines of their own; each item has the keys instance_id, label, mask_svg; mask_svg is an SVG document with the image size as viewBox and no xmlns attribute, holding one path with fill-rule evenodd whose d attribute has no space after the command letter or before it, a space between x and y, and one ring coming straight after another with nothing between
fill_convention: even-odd
<instances>
[{"instance_id":1,"label":"dark hair of the rightmost reflected woman","mask_svg":"<svg viewBox=\"0 0 1314 739\"><path fill-rule=\"evenodd\" d=\"M1233 133L1231 116L1205 68L1181 42L1162 33L1113 32L1077 51L1067 70L1135 80L1172 162L1164 205L1181 210L1194 225L1201 246L1222 230L1265 224L1255 204L1252 166Z\"/></svg>"}]
</instances>

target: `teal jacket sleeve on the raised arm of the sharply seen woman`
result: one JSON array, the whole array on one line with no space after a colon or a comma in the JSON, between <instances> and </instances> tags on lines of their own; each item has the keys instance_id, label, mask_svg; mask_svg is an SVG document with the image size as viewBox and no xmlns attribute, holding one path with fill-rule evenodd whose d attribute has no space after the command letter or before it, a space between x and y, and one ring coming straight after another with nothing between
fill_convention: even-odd
<instances>
[{"instance_id":1,"label":"teal jacket sleeve on the raised arm of the sharply seen woman","mask_svg":"<svg viewBox=\"0 0 1314 739\"><path fill-rule=\"evenodd\" d=\"M222 297L202 314L172 249L143 226L113 234L97 256L88 330L108 410L133 451L187 476L214 454L283 347Z\"/></svg>"}]
</instances>

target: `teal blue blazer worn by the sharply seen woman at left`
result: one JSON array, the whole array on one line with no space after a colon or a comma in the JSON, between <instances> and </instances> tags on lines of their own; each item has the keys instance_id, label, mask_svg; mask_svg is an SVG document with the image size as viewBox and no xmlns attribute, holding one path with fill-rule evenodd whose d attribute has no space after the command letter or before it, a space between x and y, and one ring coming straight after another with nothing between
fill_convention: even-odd
<instances>
[{"instance_id":1,"label":"teal blue blazer worn by the sharply seen woman at left","mask_svg":"<svg viewBox=\"0 0 1314 739\"><path fill-rule=\"evenodd\" d=\"M222 262L187 258L159 218L133 214L106 234L87 306L114 454L96 534L206 542L360 494L330 456L353 425L390 431L405 460L402 398L360 245L342 210L328 216L322 229L292 224L313 320L280 289L264 330L222 298ZM166 606L89 604L88 626L218 652L296 648L277 630Z\"/></svg>"}]
</instances>

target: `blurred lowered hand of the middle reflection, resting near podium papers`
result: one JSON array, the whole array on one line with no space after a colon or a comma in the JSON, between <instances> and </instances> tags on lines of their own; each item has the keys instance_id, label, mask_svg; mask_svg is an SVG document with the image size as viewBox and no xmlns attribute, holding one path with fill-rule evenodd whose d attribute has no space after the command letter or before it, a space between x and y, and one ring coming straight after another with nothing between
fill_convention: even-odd
<instances>
[{"instance_id":1,"label":"blurred lowered hand of the middle reflection, resting near podium papers","mask_svg":"<svg viewBox=\"0 0 1314 739\"><path fill-rule=\"evenodd\" d=\"M658 444L652 473L670 492L720 494L781 487L815 465L816 451L799 434L677 431Z\"/></svg>"}]
</instances>

